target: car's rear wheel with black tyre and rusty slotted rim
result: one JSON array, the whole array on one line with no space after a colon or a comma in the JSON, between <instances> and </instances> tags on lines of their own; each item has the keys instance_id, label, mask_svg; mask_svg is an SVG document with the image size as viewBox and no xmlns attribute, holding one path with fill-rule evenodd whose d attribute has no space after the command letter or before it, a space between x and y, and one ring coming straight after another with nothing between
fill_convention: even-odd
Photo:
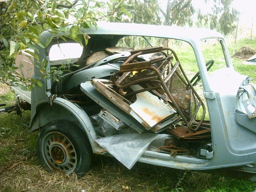
<instances>
[{"instance_id":1,"label":"car's rear wheel with black tyre and rusty slotted rim","mask_svg":"<svg viewBox=\"0 0 256 192\"><path fill-rule=\"evenodd\" d=\"M82 177L89 171L92 148L79 127L66 120L45 124L37 139L40 163L47 171L75 172Z\"/></svg>"}]
</instances>

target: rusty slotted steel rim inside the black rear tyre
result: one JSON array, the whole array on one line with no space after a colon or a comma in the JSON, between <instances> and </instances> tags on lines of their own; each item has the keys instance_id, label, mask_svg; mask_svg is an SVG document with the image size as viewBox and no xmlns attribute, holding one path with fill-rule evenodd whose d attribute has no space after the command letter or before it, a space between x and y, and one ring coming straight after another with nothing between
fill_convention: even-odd
<instances>
[{"instance_id":1,"label":"rusty slotted steel rim inside the black rear tyre","mask_svg":"<svg viewBox=\"0 0 256 192\"><path fill-rule=\"evenodd\" d=\"M71 141L60 132L49 132L42 141L45 163L52 171L71 174L75 171L77 154Z\"/></svg>"}]
</instances>

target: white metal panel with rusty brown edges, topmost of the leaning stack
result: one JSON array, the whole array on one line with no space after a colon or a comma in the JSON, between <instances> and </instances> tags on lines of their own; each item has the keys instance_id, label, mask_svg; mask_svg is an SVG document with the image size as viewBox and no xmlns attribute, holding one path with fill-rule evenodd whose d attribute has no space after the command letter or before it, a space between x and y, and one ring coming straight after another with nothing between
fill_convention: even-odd
<instances>
[{"instance_id":1,"label":"white metal panel with rusty brown edges, topmost of the leaning stack","mask_svg":"<svg viewBox=\"0 0 256 192\"><path fill-rule=\"evenodd\" d=\"M92 85L124 112L134 117L147 130L176 114L175 110L150 92L136 94L136 100L132 103L115 92L113 84L109 80L93 79ZM158 129L153 130L158 131Z\"/></svg>"}]
</instances>

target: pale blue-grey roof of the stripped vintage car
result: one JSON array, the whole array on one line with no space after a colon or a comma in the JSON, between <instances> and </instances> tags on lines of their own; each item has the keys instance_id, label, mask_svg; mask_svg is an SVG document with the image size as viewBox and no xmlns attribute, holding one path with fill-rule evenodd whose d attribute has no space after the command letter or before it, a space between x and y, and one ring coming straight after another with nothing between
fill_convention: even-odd
<instances>
[{"instance_id":1,"label":"pale blue-grey roof of the stripped vintage car","mask_svg":"<svg viewBox=\"0 0 256 192\"><path fill-rule=\"evenodd\" d=\"M222 34L217 31L206 28L186 28L186 27L172 27L161 25L145 25L135 23L108 23L98 22L97 29L92 28L83 29L88 35L127 35L127 36L153 36L164 37L187 41L191 44L205 38L224 38ZM65 34L68 35L69 29ZM49 31L41 34L43 37L52 36Z\"/></svg>"}]
</instances>

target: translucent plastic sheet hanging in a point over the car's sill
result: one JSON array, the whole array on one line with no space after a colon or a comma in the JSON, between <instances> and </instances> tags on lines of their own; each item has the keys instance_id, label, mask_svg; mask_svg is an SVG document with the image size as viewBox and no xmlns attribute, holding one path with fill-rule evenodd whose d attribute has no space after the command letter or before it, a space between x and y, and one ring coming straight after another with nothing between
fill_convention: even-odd
<instances>
[{"instance_id":1,"label":"translucent plastic sheet hanging in a point over the car's sill","mask_svg":"<svg viewBox=\"0 0 256 192\"><path fill-rule=\"evenodd\" d=\"M165 139L168 136L155 133L129 133L103 137L95 141L125 167L131 169L153 140Z\"/></svg>"}]
</instances>

